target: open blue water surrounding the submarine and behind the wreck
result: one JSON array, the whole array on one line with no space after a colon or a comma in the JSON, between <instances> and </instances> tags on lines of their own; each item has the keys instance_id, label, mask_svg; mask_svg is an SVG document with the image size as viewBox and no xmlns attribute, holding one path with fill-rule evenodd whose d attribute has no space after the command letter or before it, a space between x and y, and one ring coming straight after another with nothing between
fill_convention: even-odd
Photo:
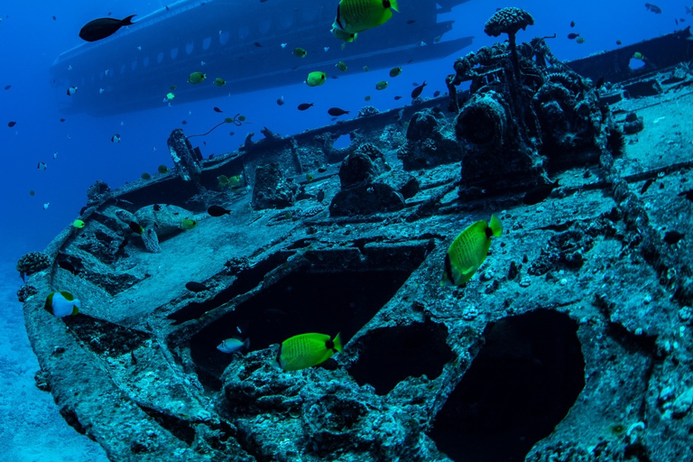
<instances>
[{"instance_id":1,"label":"open blue water surrounding the submarine and behind the wreck","mask_svg":"<svg viewBox=\"0 0 693 462\"><path fill-rule=\"evenodd\" d=\"M329 1L336 8L337 0ZM415 0L400 0L399 4L400 14L415 14ZM2 324L5 330L0 338L13 338L15 342L12 348L3 350L4 356L0 356L0 360L8 364L3 374L6 370L12 371L3 377L7 386L11 387L13 383L31 386L32 381L27 378L31 379L38 367L31 355L27 356L28 342L25 341L21 325L21 306L14 297L21 280L14 272L14 264L23 254L42 250L64 226L69 226L79 216L79 209L87 200L89 185L96 180L104 180L115 189L127 181L139 179L144 171L155 172L160 164L171 167L171 158L166 149L166 139L171 130L180 127L180 121L185 119L188 122L184 127L186 134L207 132L219 122L219 115L212 110L213 106L223 107L225 115L245 115L248 124L236 127L233 136L228 134L228 130L217 130L197 138L199 144L203 144L203 141L206 143L201 146L205 156L235 150L243 143L247 132L257 133L263 126L286 135L331 124L331 116L324 110L328 106L351 111L347 117L356 116L358 109L365 105L380 110L402 106L402 102L409 99L406 96L411 92L412 82L427 81L429 86L424 90L424 97L430 97L436 90L444 92L444 78L452 73L452 64L457 55L476 51L478 47L498 40L485 35L484 23L498 7L508 6L471 0L455 7L452 13L441 16L440 20L455 21L452 31L443 36L443 41L474 35L472 46L441 60L402 63L404 70L396 79L388 78L387 69L379 69L329 80L319 88L308 88L297 79L286 82L287 86L283 88L233 95L222 91L217 99L189 102L176 99L171 106L162 105L129 114L102 117L61 114L59 103L67 96L63 91L51 87L49 69L60 52L82 42L78 36L82 25L109 13L115 18L130 14L141 17L163 5L165 3L160 1L75 1L65 4L37 0L5 2L0 9L0 37L5 43L0 79L3 115L0 120L0 149L5 163L3 181L0 181L3 198L0 208L5 217L4 226L0 226L0 242L3 243L0 247L0 268L4 272L2 300L5 311L12 313L6 315L8 318ZM275 7L272 0L263 5L266 8ZM648 11L644 2L526 0L512 4L527 10L535 19L534 26L518 33L518 42L556 33L557 38L548 41L548 44L561 60L573 60L613 49L618 46L617 41L624 45L640 42L693 22L693 15L686 14L686 2L662 0L657 5L661 7L661 14ZM137 17L134 18L136 20ZM571 22L575 23L574 27L571 27ZM325 46L339 47L341 42L329 33L330 26L331 23L325 24ZM388 24L381 27L387 28ZM579 33L585 42L568 40L570 32ZM363 32L358 40L368 41L368 35L368 32ZM300 36L297 36L295 42L288 43L288 50L277 49L277 53L290 52L300 46ZM390 81L389 88L382 92L374 91L374 82L382 79ZM6 86L11 87L3 89ZM373 99L366 103L365 95ZM395 95L405 97L395 101ZM275 102L281 96L286 101L284 106L278 106ZM322 101L324 108L297 111L299 103L310 101ZM61 117L66 120L60 122ZM10 127L9 122L16 122L16 125ZM111 143L115 133L121 135L121 143ZM45 162L46 170L38 169L38 162ZM34 196L30 195L30 190L35 191ZM44 204L49 205L44 208ZM22 337L17 340L14 336ZM9 340L6 345L10 345ZM33 398L30 399L35 399L37 392L32 390L31 393ZM44 398L44 401L50 399ZM42 410L45 402L41 405ZM34 409L32 415L39 415L35 412L40 413ZM55 410L46 412L52 413L53 417L57 414ZM60 425L55 420L59 418L51 420L53 423L42 422L42 432L46 432L51 425ZM12 421L16 425L35 425L30 419L25 422L21 419ZM74 433L66 425L56 427L53 431ZM14 429L14 432L31 435L29 431L17 432ZM22 441L12 441L13 444L23 444ZM46 452L50 454L51 449L46 448ZM75 459L82 459L80 457ZM62 458L51 458L49 455L42 457L42 460Z\"/></svg>"}]
</instances>

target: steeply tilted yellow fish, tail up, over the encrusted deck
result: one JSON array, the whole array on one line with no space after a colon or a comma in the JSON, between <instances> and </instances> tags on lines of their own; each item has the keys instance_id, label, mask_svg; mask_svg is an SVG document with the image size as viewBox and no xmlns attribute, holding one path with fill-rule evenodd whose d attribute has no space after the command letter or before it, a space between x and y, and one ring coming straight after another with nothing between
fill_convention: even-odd
<instances>
[{"instance_id":1,"label":"steeply tilted yellow fish, tail up, over the encrusted deck","mask_svg":"<svg viewBox=\"0 0 693 462\"><path fill-rule=\"evenodd\" d=\"M495 215L491 216L490 224L484 220L467 226L455 238L445 255L445 270L441 285L462 285L469 281L481 263L484 263L491 238L501 236L503 226Z\"/></svg>"}]
</instances>

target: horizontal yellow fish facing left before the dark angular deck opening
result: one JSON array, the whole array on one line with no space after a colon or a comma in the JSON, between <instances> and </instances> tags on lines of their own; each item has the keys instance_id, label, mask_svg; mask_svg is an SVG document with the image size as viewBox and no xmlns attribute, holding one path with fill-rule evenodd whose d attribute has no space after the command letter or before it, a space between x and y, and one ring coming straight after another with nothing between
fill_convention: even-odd
<instances>
[{"instance_id":1,"label":"horizontal yellow fish facing left before the dark angular deck opening","mask_svg":"<svg viewBox=\"0 0 693 462\"><path fill-rule=\"evenodd\" d=\"M298 371L327 361L342 351L342 339L326 334L300 334L287 338L277 352L277 364L285 371Z\"/></svg>"}]
</instances>

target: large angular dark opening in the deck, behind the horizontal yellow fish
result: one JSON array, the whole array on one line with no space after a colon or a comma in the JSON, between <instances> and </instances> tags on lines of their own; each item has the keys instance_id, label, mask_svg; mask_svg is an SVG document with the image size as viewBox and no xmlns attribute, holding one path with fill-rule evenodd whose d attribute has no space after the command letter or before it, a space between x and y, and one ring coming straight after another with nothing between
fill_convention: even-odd
<instances>
[{"instance_id":1,"label":"large angular dark opening in the deck, behind the horizontal yellow fish","mask_svg":"<svg viewBox=\"0 0 693 462\"><path fill-rule=\"evenodd\" d=\"M268 285L190 338L190 356L200 383L211 390L221 389L221 374L235 356L218 351L217 346L229 337L249 338L251 350L308 332L340 333L346 344L419 267L426 248L349 249L348 254L359 256L347 256L343 250L307 253L311 264Z\"/></svg>"}]
</instances>

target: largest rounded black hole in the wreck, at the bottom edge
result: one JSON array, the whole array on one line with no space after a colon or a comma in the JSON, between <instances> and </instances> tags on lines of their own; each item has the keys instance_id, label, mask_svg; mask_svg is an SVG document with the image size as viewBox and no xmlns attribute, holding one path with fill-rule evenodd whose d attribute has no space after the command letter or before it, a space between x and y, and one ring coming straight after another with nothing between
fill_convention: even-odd
<instances>
[{"instance_id":1,"label":"largest rounded black hole in the wreck, at the bottom edge","mask_svg":"<svg viewBox=\"0 0 693 462\"><path fill-rule=\"evenodd\" d=\"M489 324L484 337L430 438L456 462L521 462L585 386L577 323L558 311L534 310Z\"/></svg>"}]
</instances>

